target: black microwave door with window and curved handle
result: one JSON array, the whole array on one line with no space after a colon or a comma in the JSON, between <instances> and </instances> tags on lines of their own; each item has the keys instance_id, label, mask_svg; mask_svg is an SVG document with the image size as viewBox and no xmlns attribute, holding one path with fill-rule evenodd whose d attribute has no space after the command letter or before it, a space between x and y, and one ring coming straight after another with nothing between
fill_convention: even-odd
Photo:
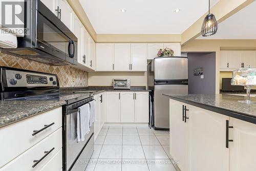
<instances>
[{"instance_id":1,"label":"black microwave door with window and curved handle","mask_svg":"<svg viewBox=\"0 0 256 171\"><path fill-rule=\"evenodd\" d=\"M56 17L56 16L54 16ZM58 21L60 22L60 20ZM62 24L62 23L61 23ZM37 11L37 48L60 60L73 64L76 42Z\"/></svg>"}]
</instances>

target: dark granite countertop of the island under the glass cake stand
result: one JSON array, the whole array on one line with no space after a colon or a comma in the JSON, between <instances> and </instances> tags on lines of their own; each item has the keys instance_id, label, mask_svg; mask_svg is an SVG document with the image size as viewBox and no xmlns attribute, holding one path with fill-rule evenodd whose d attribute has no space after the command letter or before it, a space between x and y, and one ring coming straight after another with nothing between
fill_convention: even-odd
<instances>
[{"instance_id":1,"label":"dark granite countertop of the island under the glass cake stand","mask_svg":"<svg viewBox=\"0 0 256 171\"><path fill-rule=\"evenodd\" d=\"M246 99L246 97L243 96L226 94L164 95L171 99L195 105L202 109L256 124L256 103L246 104L238 102L238 100ZM251 100L256 101L256 98L251 97Z\"/></svg>"}]
</instances>

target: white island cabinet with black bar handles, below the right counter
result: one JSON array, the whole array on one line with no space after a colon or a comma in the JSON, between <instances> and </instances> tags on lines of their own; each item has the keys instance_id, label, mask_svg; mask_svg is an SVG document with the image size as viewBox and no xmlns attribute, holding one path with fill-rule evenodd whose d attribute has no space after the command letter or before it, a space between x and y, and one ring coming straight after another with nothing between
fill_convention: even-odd
<instances>
[{"instance_id":1,"label":"white island cabinet with black bar handles, below the right counter","mask_svg":"<svg viewBox=\"0 0 256 171\"><path fill-rule=\"evenodd\" d=\"M182 171L256 170L256 124L170 99L170 130Z\"/></svg>"}]
</instances>

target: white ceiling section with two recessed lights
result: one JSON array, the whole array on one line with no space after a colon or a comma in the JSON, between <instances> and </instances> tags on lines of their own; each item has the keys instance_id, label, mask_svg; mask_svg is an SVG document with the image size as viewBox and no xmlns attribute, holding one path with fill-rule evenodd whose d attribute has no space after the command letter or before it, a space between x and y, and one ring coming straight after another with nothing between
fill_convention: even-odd
<instances>
[{"instance_id":1,"label":"white ceiling section with two recessed lights","mask_svg":"<svg viewBox=\"0 0 256 171\"><path fill-rule=\"evenodd\" d=\"M211 0L214 6L219 0ZM207 0L79 0L97 34L180 34L208 9ZM174 12L179 8L180 12ZM126 12L121 12L125 9Z\"/></svg>"}]
</instances>

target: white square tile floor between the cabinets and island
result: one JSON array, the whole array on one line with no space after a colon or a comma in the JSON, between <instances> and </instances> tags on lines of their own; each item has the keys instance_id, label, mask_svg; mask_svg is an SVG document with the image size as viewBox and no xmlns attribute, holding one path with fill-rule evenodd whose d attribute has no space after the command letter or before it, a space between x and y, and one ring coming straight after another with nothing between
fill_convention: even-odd
<instances>
[{"instance_id":1,"label":"white square tile floor between the cabinets and island","mask_svg":"<svg viewBox=\"0 0 256 171\"><path fill-rule=\"evenodd\" d=\"M176 171L170 159L169 132L104 126L86 171Z\"/></svg>"}]
</instances>

